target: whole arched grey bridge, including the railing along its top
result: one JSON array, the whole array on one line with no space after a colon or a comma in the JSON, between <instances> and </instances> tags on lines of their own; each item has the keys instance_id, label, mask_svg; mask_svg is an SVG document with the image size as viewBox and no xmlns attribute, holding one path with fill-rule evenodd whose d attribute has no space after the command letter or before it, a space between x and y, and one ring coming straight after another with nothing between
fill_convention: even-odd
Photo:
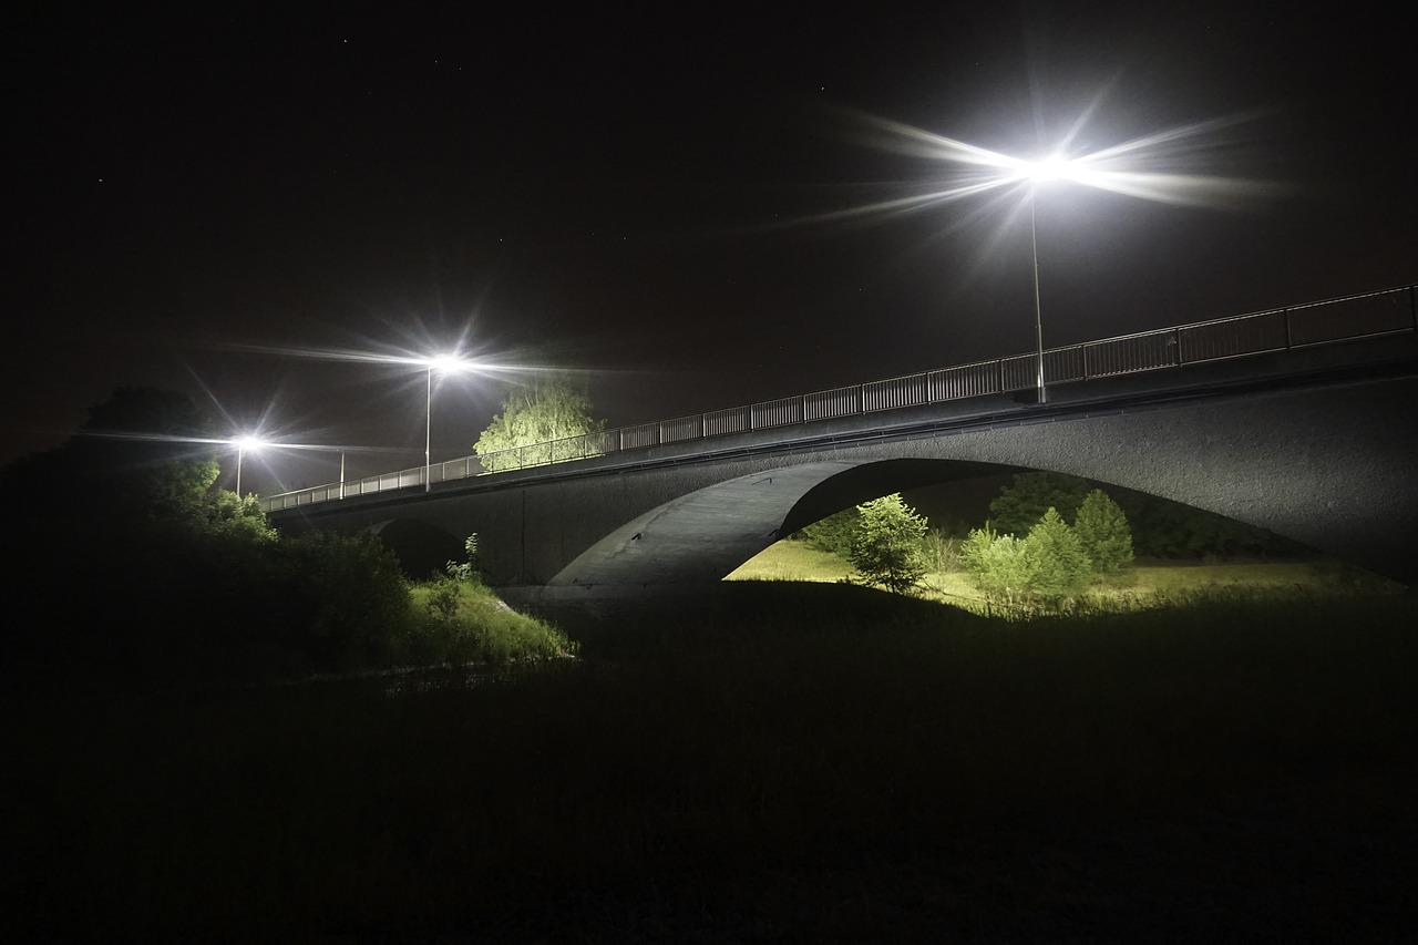
<instances>
[{"instance_id":1,"label":"whole arched grey bridge, including the railing along its top","mask_svg":"<svg viewBox=\"0 0 1418 945\"><path fill-rule=\"evenodd\" d=\"M879 495L1051 470L1418 583L1412 287L1048 350L1046 403L1037 368L947 368L264 505L284 532L377 532L414 575L476 532L492 583L576 603L718 582Z\"/></svg>"}]
</instances>

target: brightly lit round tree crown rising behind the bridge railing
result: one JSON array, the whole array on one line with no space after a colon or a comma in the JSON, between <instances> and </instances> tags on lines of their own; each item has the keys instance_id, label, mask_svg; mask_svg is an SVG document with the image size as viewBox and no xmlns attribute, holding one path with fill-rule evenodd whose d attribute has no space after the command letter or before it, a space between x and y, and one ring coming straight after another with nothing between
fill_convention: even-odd
<instances>
[{"instance_id":1,"label":"brightly lit round tree crown rising behind the bridge railing","mask_svg":"<svg viewBox=\"0 0 1418 945\"><path fill-rule=\"evenodd\" d=\"M515 390L502 413L472 446L488 472L600 455L604 420L591 416L590 399L562 380Z\"/></svg>"}]
</instances>

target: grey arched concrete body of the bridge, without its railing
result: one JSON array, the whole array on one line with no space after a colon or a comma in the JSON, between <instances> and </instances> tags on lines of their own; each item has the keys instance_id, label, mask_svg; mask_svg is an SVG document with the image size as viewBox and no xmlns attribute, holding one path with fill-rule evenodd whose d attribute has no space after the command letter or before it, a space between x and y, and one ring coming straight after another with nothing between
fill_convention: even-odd
<instances>
[{"instance_id":1,"label":"grey arched concrete body of the bridge, without its railing","mask_svg":"<svg viewBox=\"0 0 1418 945\"><path fill-rule=\"evenodd\" d=\"M1412 339L1401 342L1408 349ZM1418 583L1418 359L1168 392L1112 380L1048 404L886 411L499 472L272 514L282 531L374 531L410 573L462 555L549 603L722 579L803 525L923 485L1051 470L1266 528Z\"/></svg>"}]
</instances>

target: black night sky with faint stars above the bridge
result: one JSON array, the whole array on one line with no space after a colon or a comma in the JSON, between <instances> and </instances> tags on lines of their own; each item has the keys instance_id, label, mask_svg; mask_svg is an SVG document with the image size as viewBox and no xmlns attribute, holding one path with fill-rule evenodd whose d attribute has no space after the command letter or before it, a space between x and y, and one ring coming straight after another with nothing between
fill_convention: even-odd
<instances>
[{"instance_id":1,"label":"black night sky with faint stars above the bridge","mask_svg":"<svg viewBox=\"0 0 1418 945\"><path fill-rule=\"evenodd\" d=\"M1028 350L1027 214L822 219L959 170L864 115L1020 156L1217 122L1149 169L1266 182L1049 189L1046 345L1418 280L1400 4L187 6L7 14L0 461L153 385L352 477L421 464L423 375L278 349L461 339L611 426ZM435 460L508 380L438 387Z\"/></svg>"}]
</instances>

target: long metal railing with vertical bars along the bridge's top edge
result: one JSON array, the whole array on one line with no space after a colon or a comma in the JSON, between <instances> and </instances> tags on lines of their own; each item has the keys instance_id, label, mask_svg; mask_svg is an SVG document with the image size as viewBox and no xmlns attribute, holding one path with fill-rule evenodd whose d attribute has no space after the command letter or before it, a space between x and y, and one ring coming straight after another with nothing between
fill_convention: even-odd
<instances>
[{"instance_id":1,"label":"long metal railing with vertical bars along the bridge's top edge","mask_svg":"<svg viewBox=\"0 0 1418 945\"><path fill-rule=\"evenodd\" d=\"M1051 348L1044 352L1044 379L1048 386L1055 386L1312 345L1332 345L1375 335L1414 332L1418 331L1415 288L1418 287L1404 285L1290 308L1105 338L1083 345ZM611 453L645 450L661 444L747 433L749 430L1028 390L1037 382L1038 355L1014 355L817 393L778 397L743 407L712 410L674 420L641 423L564 440L535 443L486 453L481 457L462 457L431 465L428 481L448 482L474 475L526 470ZM424 467L415 467L353 482L316 485L271 495L261 499L261 508L272 512L356 495L421 487L423 484Z\"/></svg>"}]
</instances>

